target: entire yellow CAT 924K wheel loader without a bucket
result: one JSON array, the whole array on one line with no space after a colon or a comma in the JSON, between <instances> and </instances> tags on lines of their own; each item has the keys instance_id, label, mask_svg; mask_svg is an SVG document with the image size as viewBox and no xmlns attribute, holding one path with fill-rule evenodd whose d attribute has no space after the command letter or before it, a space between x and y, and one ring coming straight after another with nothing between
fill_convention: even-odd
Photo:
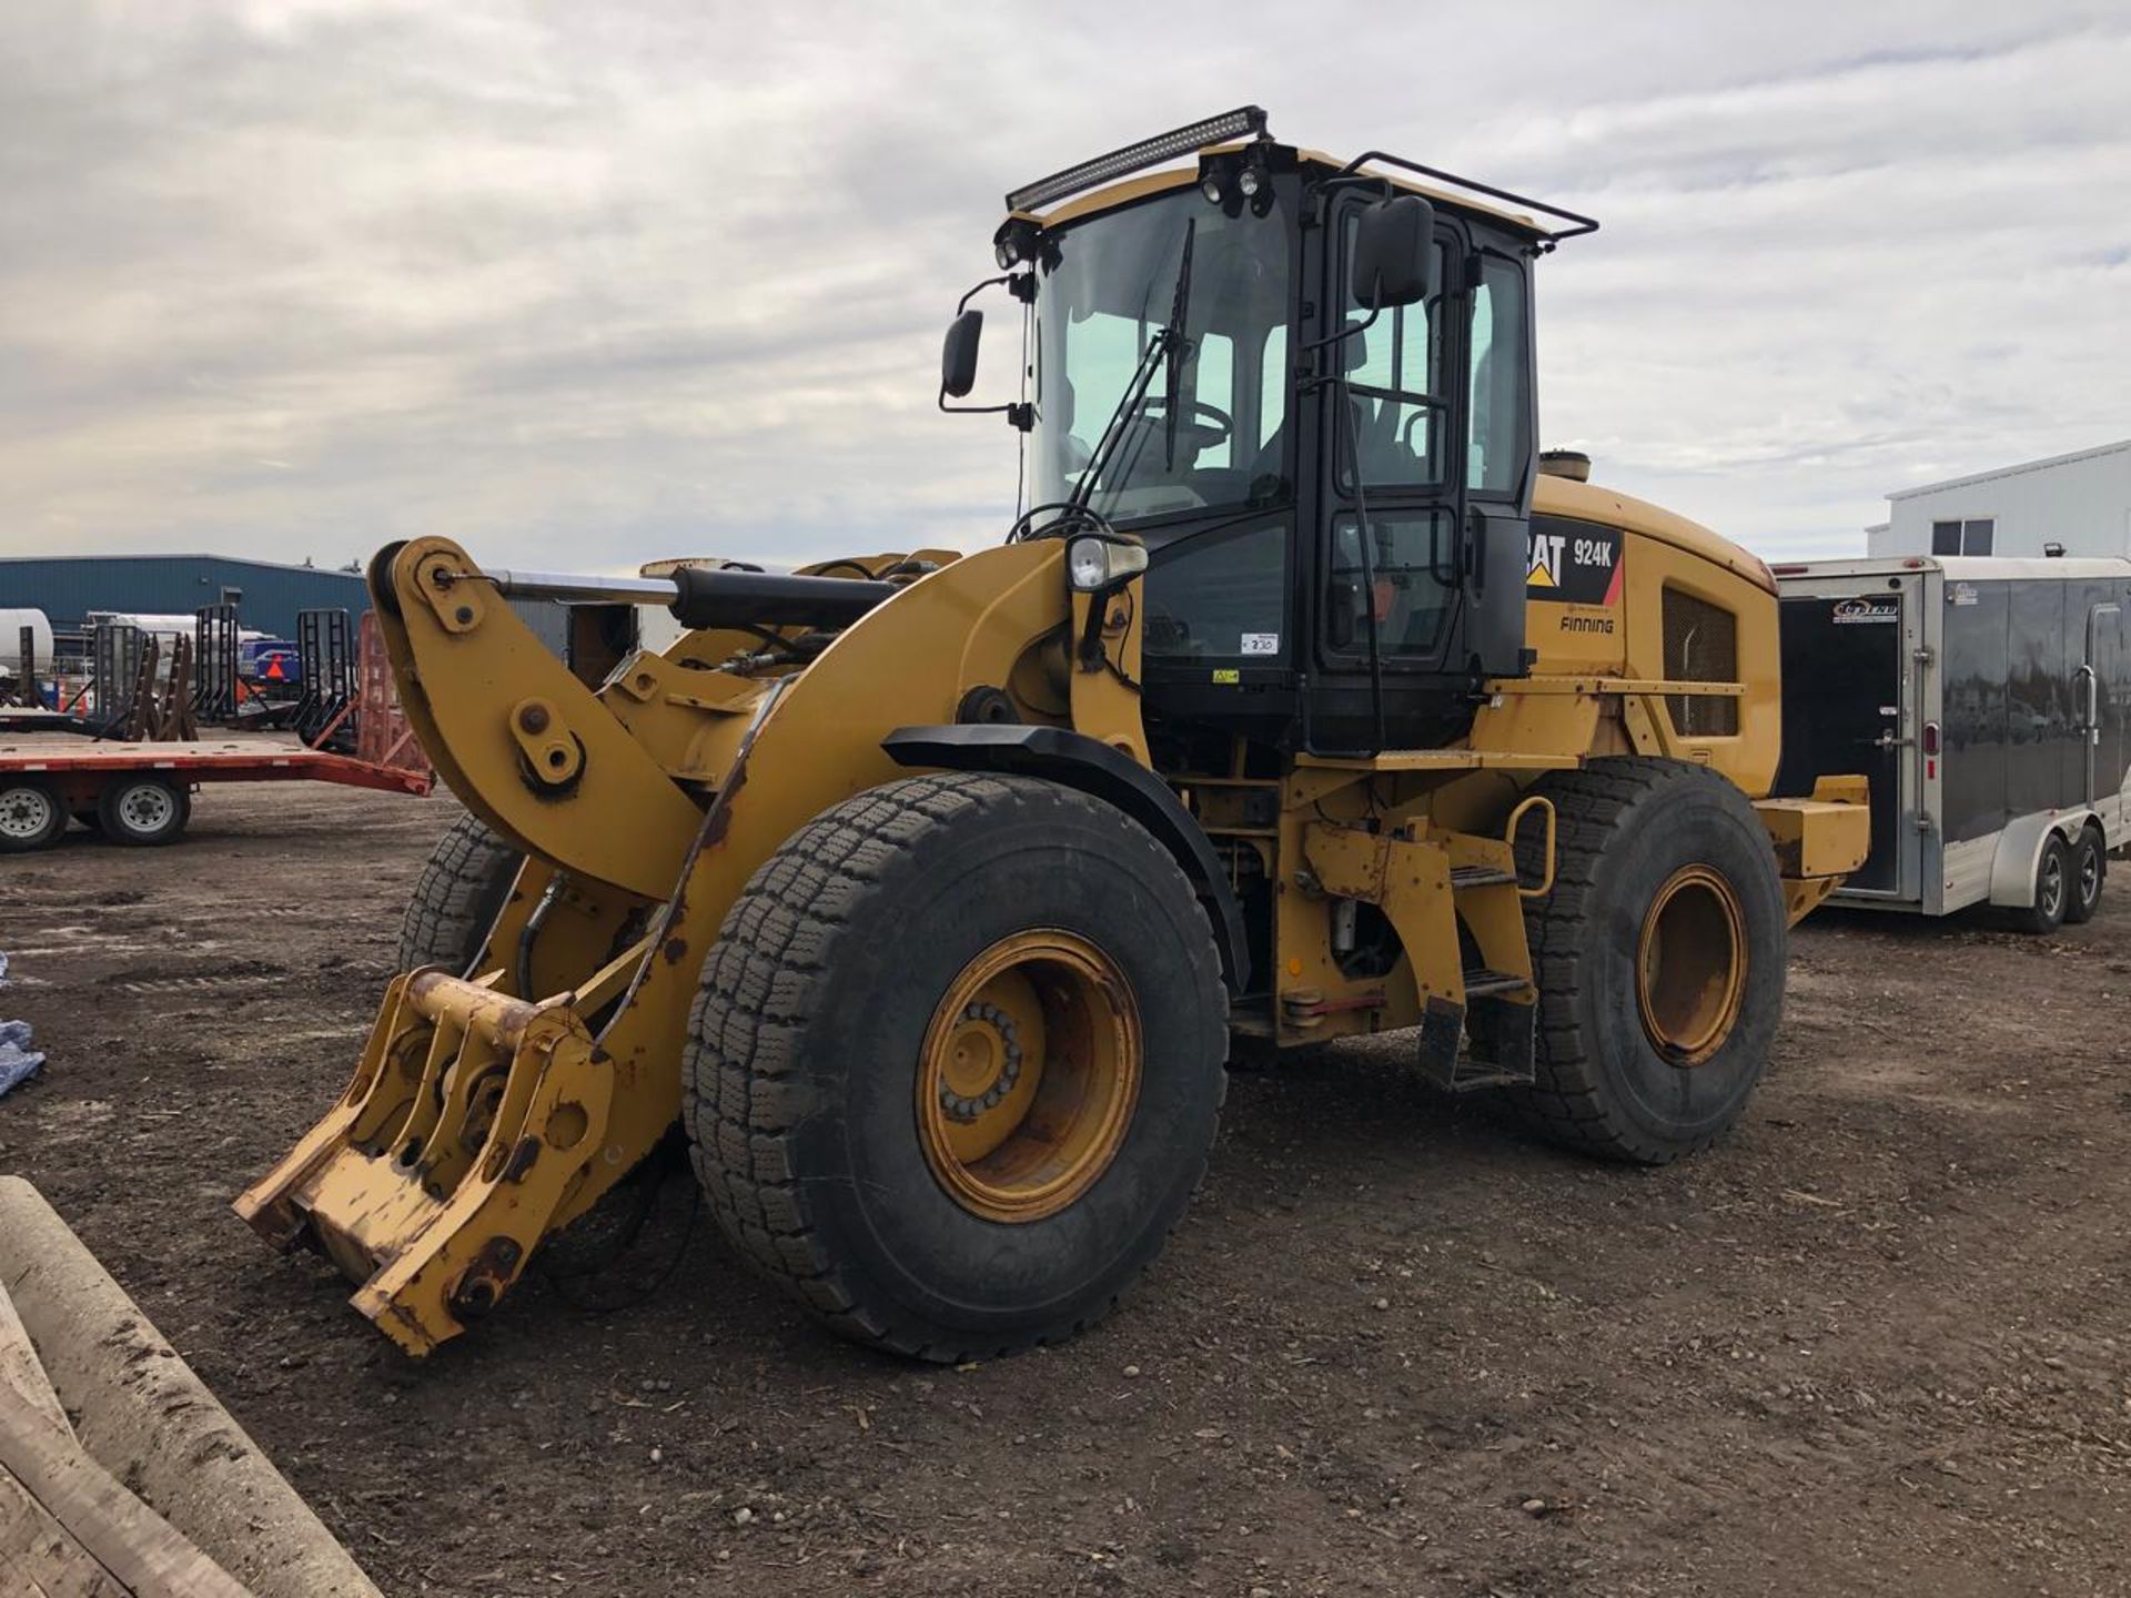
<instances>
[{"instance_id":1,"label":"entire yellow CAT 924K wheel loader without a bucket","mask_svg":"<svg viewBox=\"0 0 2131 1598\"><path fill-rule=\"evenodd\" d=\"M1594 226L1215 117L1008 196L991 409L1036 492L997 548L379 552L469 814L345 1095L239 1212L426 1353L678 1123L767 1276L963 1359L1117 1302L1234 1048L1400 1029L1575 1148L1718 1138L1867 812L1767 797L1762 562L1541 467L1532 266ZM686 631L586 686L509 597Z\"/></svg>"}]
</instances>

